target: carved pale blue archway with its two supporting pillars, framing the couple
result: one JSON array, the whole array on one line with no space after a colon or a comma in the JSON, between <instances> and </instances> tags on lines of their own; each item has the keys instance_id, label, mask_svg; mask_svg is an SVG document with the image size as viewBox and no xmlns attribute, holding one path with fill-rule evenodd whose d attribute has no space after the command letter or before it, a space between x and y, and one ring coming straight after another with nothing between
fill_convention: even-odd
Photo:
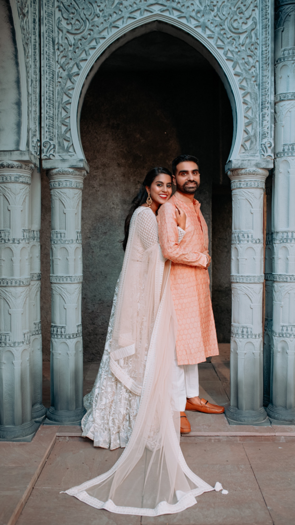
<instances>
[{"instance_id":1,"label":"carved pale blue archway with its two supporting pillars, framing the couple","mask_svg":"<svg viewBox=\"0 0 295 525\"><path fill-rule=\"evenodd\" d=\"M46 58L44 64L42 163L49 170L54 203L51 241L52 266L55 268L51 275L54 296L54 391L57 385L54 376L57 374L58 378L61 369L73 368L70 359L73 361L74 353L72 355L70 352L72 358L68 357L69 343L73 345L77 341L81 342L77 309L81 302L79 279L82 276L70 275L69 269L67 277L61 275L64 270L59 271L57 265L54 267L54 254L58 251L60 260L61 252L69 254L69 243L73 247L78 247L80 243L80 228L77 229L78 226L75 227L74 223L71 227L65 225L64 233L58 217L62 207L66 222L73 222L74 212L77 212L76 222L80 220L82 182L77 182L78 169L81 170L81 180L85 175L84 170L88 171L79 136L83 98L91 78L116 48L147 31L161 30L182 38L201 51L220 75L231 100L234 137L227 168L230 169L235 203L233 266L236 270L233 275L233 301L238 304L238 319L234 318L233 323L232 363L235 370L232 371L232 408L228 412L228 418L244 423L265 421L261 396L264 281L262 214L264 181L268 169L272 167L273 142L271 83L265 82L266 72L269 75L271 64L268 48L271 36L270 12L269 4L264 2L263 5L264 10L259 12L255 2L241 4L237 13L236 5L231 2L217 2L214 6L210 4L208 8L207 5L201 6L201 3L179 3L173 0L154 3L140 0L135 3L107 2L101 12L93 1L77 2L77 9L73 4L43 2L43 48L47 50L48 59ZM261 6L260 8L262 9ZM50 62L53 57L54 61ZM258 119L259 109L261 112ZM247 222L248 212L252 218L251 224ZM71 235L68 233L69 228L72 230ZM237 261L234 260L236 249ZM247 268L249 265L242 262L247 260L249 249L255 253L256 260L255 268L250 270ZM69 255L64 257L69 259ZM69 322L72 316L72 330L66 319L62 321L60 318L58 323L60 304L64 302L65 295L67 304L64 308L67 309L67 315L69 313ZM74 298L73 304L71 298ZM244 356L243 360L241 356ZM255 374L251 374L254 381L249 383L246 378L242 384L241 375L247 374L249 364L250 369L255 367ZM249 387L257 391L254 402L249 401ZM58 392L57 397L60 399ZM78 421L79 407L75 405L74 410L69 409L70 397L70 392L64 391L63 409L61 405L57 408L52 403L48 413L52 423ZM71 406L74 405L71 403ZM80 408L82 409L81 399Z\"/></svg>"}]
</instances>

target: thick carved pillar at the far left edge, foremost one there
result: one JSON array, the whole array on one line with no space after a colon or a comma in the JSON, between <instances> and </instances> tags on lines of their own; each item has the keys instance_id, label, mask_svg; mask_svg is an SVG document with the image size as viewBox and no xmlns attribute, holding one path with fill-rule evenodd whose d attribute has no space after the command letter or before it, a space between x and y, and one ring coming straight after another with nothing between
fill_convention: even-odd
<instances>
[{"instance_id":1,"label":"thick carved pillar at the far left edge, foremost one there","mask_svg":"<svg viewBox=\"0 0 295 525\"><path fill-rule=\"evenodd\" d=\"M34 164L0 163L0 439L30 440L30 184Z\"/></svg>"}]
</instances>

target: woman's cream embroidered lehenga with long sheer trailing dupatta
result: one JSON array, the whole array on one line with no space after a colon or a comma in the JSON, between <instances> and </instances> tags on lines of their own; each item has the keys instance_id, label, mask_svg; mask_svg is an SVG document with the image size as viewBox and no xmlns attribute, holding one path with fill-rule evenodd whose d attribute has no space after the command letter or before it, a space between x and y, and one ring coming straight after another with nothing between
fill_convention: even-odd
<instances>
[{"instance_id":1,"label":"woman's cream embroidered lehenga with long sheer trailing dupatta","mask_svg":"<svg viewBox=\"0 0 295 525\"><path fill-rule=\"evenodd\" d=\"M94 446L126 448L105 474L66 491L97 509L158 516L180 512L195 505L195 496L214 490L189 469L179 445L170 264L161 253L156 216L137 208L105 352L82 421L83 435Z\"/></svg>"}]
</instances>

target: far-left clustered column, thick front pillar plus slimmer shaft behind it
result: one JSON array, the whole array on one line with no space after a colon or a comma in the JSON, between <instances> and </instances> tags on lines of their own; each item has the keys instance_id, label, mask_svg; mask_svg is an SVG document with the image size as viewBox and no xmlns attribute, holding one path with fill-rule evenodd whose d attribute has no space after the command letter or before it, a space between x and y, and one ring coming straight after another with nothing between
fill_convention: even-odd
<instances>
[{"instance_id":1,"label":"far-left clustered column, thick front pillar plus slimmer shaft behind it","mask_svg":"<svg viewBox=\"0 0 295 525\"><path fill-rule=\"evenodd\" d=\"M6 392L0 404L0 439L28 438L37 429L33 420L45 415L39 232L31 232L30 195L39 183L34 167L0 163L0 384ZM40 224L35 221L34 227Z\"/></svg>"}]
</instances>

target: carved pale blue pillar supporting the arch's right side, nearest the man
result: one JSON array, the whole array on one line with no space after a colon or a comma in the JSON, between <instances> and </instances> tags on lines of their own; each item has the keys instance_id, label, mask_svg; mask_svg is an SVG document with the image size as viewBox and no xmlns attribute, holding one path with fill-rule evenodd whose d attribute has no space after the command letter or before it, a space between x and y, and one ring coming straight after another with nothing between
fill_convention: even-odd
<instances>
[{"instance_id":1,"label":"carved pale blue pillar supporting the arch's right side, nearest the man","mask_svg":"<svg viewBox=\"0 0 295 525\"><path fill-rule=\"evenodd\" d=\"M230 424L267 425L263 408L265 169L228 172L233 194Z\"/></svg>"}]
</instances>

